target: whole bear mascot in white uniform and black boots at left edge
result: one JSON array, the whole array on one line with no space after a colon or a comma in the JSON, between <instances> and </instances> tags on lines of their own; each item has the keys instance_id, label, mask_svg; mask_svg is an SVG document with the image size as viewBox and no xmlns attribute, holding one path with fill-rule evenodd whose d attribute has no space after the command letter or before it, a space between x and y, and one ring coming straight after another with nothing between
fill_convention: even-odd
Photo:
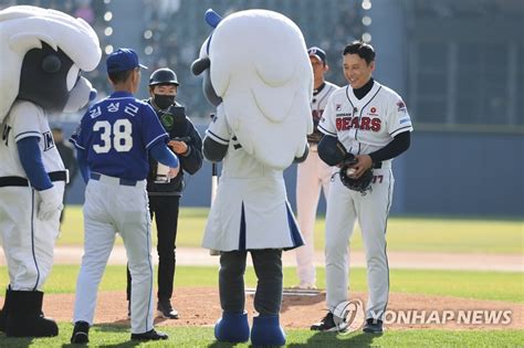
<instances>
[{"instance_id":1,"label":"whole bear mascot in white uniform and black boots at left edge","mask_svg":"<svg viewBox=\"0 0 524 348\"><path fill-rule=\"evenodd\" d=\"M95 94L81 71L102 56L82 19L29 6L0 11L0 236L10 284L0 330L12 337L56 336L42 313L53 264L67 172L49 113L75 112Z\"/></svg>"}]
</instances>

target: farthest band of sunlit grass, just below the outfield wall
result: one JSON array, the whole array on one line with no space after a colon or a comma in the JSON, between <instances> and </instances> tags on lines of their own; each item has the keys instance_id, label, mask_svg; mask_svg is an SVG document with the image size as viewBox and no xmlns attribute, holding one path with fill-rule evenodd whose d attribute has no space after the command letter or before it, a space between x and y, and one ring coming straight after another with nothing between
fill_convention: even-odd
<instances>
[{"instance_id":1,"label":"farthest band of sunlit grass, just below the outfield wall","mask_svg":"<svg viewBox=\"0 0 524 348\"><path fill-rule=\"evenodd\" d=\"M182 208L177 235L178 246L200 246L208 209ZM154 234L155 235L155 234ZM523 220L390 218L388 250L407 252L522 254ZM78 205L66 207L59 245L83 243L83 218ZM117 243L122 243L117 239ZM315 226L315 247L324 249L324 218ZM360 230L355 229L352 249L361 250Z\"/></svg>"}]
</instances>

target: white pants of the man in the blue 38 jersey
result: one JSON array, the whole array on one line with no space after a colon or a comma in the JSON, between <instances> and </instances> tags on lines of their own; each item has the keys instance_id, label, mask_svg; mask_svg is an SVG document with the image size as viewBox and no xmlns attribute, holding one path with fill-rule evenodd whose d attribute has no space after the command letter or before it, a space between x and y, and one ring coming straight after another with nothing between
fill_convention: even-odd
<instances>
[{"instance_id":1,"label":"white pants of the man in the blue 38 jersey","mask_svg":"<svg viewBox=\"0 0 524 348\"><path fill-rule=\"evenodd\" d=\"M146 181L123 186L119 179L91 179L85 191L84 255L76 282L74 323L93 325L98 284L115 243L122 235L127 252L132 283L132 333L153 329L151 222Z\"/></svg>"}]
</instances>

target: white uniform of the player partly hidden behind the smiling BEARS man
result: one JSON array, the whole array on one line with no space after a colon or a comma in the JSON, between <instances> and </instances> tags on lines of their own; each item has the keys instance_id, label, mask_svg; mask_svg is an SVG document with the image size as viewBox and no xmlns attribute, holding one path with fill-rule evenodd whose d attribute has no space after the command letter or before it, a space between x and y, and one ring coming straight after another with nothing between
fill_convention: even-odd
<instances>
[{"instance_id":1,"label":"white uniform of the player partly hidden behind the smiling BEARS man","mask_svg":"<svg viewBox=\"0 0 524 348\"><path fill-rule=\"evenodd\" d=\"M338 88L337 85L326 81L324 87L318 93L313 94L311 109L314 124L321 120L329 95ZM317 130L315 129L315 131ZM296 250L296 274L300 284L306 286L315 286L316 284L314 265L316 208L321 188L324 191L324 198L327 200L333 171L333 168L318 157L316 147L317 144L310 143L310 155L296 169L296 220L305 239L305 245Z\"/></svg>"}]
</instances>

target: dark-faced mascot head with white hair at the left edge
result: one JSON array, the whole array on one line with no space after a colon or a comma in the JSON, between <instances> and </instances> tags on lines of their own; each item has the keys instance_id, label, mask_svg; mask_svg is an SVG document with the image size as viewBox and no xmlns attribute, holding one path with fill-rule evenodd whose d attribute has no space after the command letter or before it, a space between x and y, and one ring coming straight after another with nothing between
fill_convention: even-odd
<instances>
[{"instance_id":1,"label":"dark-faced mascot head with white hair at the left edge","mask_svg":"<svg viewBox=\"0 0 524 348\"><path fill-rule=\"evenodd\" d=\"M82 19L30 6L0 11L0 122L17 98L50 112L74 112L93 97L81 71L102 57L98 38Z\"/></svg>"}]
</instances>

